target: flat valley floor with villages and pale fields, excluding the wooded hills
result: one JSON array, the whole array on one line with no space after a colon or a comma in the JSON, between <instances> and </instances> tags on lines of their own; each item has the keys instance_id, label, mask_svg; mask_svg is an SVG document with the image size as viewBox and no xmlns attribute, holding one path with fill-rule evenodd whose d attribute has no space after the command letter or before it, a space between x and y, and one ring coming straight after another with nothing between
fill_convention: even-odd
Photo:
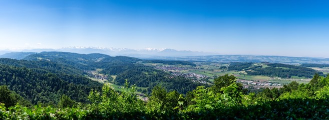
<instances>
[{"instance_id":1,"label":"flat valley floor with villages and pale fields, excluding the wooded hills","mask_svg":"<svg viewBox=\"0 0 329 120\"><path fill-rule=\"evenodd\" d=\"M263 88L263 87L282 87L284 84L288 84L291 81L297 81L298 83L307 83L309 78L305 77L292 77L282 78L277 76L266 75L251 75L247 74L248 69L243 70L231 70L228 69L230 63L217 63L217 62L193 62L196 66L182 65L182 64L163 64L163 63L144 63L145 65L154 66L157 69L161 69L170 72L173 76L183 76L190 78L193 82L200 82L205 84L213 84L213 80L221 75L229 74L234 75L237 79L236 82L242 83L245 88ZM255 67L267 67L268 62L254 63ZM236 65L238 67L238 65Z\"/></svg>"}]
</instances>

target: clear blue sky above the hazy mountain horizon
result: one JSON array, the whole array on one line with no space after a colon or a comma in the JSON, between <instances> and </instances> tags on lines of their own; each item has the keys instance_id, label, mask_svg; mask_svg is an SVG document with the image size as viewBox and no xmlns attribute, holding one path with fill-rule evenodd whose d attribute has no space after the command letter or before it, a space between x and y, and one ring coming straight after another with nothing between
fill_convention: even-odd
<instances>
[{"instance_id":1,"label":"clear blue sky above the hazy mountain horizon","mask_svg":"<svg viewBox=\"0 0 329 120\"><path fill-rule=\"evenodd\" d=\"M329 0L0 0L0 39L329 57Z\"/></svg>"}]
</instances>

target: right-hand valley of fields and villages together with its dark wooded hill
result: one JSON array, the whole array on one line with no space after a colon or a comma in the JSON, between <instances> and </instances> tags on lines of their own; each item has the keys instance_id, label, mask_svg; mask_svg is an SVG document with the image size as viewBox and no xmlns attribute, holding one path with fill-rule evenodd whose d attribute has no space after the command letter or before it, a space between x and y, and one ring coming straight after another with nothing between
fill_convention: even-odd
<instances>
[{"instance_id":1,"label":"right-hand valley of fields and villages together with its dark wooded hill","mask_svg":"<svg viewBox=\"0 0 329 120\"><path fill-rule=\"evenodd\" d=\"M196 67L186 67L182 65L171 65L172 67L181 67L182 70L175 70L182 73L196 73L209 76L207 80L212 81L220 75L233 74L238 79L252 80L252 81L275 81L277 83L290 83L297 81L299 83L307 83L314 73L323 73L324 76L326 69L310 69L302 66L287 65L269 62L230 62L230 63L216 63L216 62L193 62ZM153 66L167 66L168 64L149 64ZM227 67L229 66L230 69ZM265 69L265 70L264 70ZM259 71L259 72L258 72ZM284 71L284 72L283 72ZM291 73L290 73L291 72ZM297 76L299 75L299 76ZM206 79L203 79L207 81Z\"/></svg>"}]
</instances>

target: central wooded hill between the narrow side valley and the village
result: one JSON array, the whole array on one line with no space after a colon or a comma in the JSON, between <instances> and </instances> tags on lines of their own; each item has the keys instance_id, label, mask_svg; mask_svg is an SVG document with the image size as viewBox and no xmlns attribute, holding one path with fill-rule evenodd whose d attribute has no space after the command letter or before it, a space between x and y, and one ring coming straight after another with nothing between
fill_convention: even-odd
<instances>
[{"instance_id":1,"label":"central wooded hill between the narrow side valley and the village","mask_svg":"<svg viewBox=\"0 0 329 120\"><path fill-rule=\"evenodd\" d=\"M186 77L173 76L168 72L154 69L151 66L131 64L129 67L117 75L114 84L124 85L125 79L128 79L131 84L148 87L147 94L157 84L162 84L167 90L177 90L179 93L186 93L196 88L196 86L204 85L202 83L192 82Z\"/></svg>"}]
</instances>

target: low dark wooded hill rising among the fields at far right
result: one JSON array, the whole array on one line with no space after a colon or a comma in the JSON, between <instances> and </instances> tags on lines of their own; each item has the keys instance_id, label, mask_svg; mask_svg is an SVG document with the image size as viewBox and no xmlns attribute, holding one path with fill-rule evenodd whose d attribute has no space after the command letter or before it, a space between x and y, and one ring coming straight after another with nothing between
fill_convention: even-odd
<instances>
[{"instance_id":1,"label":"low dark wooded hill rising among the fields at far right","mask_svg":"<svg viewBox=\"0 0 329 120\"><path fill-rule=\"evenodd\" d=\"M291 76L307 77L311 78L313 74L319 73L324 76L323 72L316 71L311 68L281 64L281 63L270 63L267 64L269 67L265 68L251 68L247 70L246 73L252 75L267 75L267 76L278 76L283 78L290 78Z\"/></svg>"}]
</instances>

